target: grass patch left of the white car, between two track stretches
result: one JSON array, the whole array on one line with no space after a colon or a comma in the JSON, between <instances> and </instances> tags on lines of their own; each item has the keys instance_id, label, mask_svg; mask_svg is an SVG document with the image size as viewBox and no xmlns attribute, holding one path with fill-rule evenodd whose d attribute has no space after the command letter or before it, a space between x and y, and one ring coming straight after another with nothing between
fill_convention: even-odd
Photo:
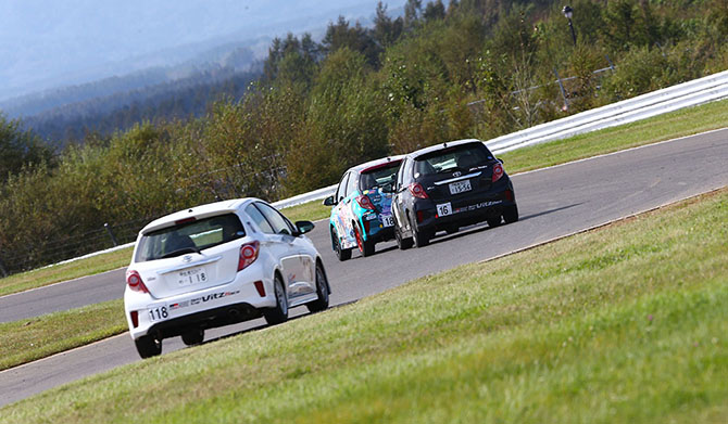
<instances>
[{"instance_id":1,"label":"grass patch left of the white car, between two track stretches","mask_svg":"<svg viewBox=\"0 0 728 424\"><path fill-rule=\"evenodd\" d=\"M121 299L0 323L0 371L88 345L126 329Z\"/></svg>"}]
</instances>

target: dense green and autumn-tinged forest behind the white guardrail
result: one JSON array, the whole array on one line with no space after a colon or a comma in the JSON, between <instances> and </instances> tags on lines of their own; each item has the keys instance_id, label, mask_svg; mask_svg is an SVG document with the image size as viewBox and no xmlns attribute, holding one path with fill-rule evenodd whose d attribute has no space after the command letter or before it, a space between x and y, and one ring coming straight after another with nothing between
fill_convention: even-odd
<instances>
[{"instance_id":1,"label":"dense green and autumn-tinged forest behind the white guardrail","mask_svg":"<svg viewBox=\"0 0 728 424\"><path fill-rule=\"evenodd\" d=\"M0 268L134 239L215 200L276 201L367 159L490 138L728 68L728 0L409 0L374 25L275 39L255 81L198 117L58 143L0 115ZM562 86L556 81L562 81ZM244 83L244 86L242 86ZM153 112L153 111L152 111Z\"/></svg>"}]
</instances>

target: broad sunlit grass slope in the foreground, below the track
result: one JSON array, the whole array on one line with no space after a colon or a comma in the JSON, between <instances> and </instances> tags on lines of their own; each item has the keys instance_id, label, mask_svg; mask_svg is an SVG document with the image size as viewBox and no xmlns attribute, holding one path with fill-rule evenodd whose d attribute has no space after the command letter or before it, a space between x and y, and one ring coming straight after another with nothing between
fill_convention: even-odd
<instances>
[{"instance_id":1,"label":"broad sunlit grass slope in the foreground, below the track","mask_svg":"<svg viewBox=\"0 0 728 424\"><path fill-rule=\"evenodd\" d=\"M728 422L728 190L172 352L0 423Z\"/></svg>"}]
</instances>

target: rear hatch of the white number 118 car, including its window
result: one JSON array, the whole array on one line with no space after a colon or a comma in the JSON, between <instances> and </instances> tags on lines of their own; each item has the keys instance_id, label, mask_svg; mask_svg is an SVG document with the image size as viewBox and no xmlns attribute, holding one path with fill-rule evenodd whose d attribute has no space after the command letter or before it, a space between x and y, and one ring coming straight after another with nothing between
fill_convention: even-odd
<instances>
[{"instance_id":1,"label":"rear hatch of the white number 118 car, including its window","mask_svg":"<svg viewBox=\"0 0 728 424\"><path fill-rule=\"evenodd\" d=\"M165 298L231 282L246 232L237 215L188 218L143 233L131 269Z\"/></svg>"}]
</instances>

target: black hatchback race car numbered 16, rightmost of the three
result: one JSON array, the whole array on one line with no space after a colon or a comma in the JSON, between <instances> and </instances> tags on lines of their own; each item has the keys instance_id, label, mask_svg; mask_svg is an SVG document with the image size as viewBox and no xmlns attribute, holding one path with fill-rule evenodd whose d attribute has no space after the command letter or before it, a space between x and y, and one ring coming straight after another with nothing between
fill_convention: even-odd
<instances>
[{"instance_id":1,"label":"black hatchback race car numbered 16, rightmost of the three","mask_svg":"<svg viewBox=\"0 0 728 424\"><path fill-rule=\"evenodd\" d=\"M407 154L392 201L400 248L426 246L438 231L518 220L513 183L502 162L479 140L437 144Z\"/></svg>"}]
</instances>

